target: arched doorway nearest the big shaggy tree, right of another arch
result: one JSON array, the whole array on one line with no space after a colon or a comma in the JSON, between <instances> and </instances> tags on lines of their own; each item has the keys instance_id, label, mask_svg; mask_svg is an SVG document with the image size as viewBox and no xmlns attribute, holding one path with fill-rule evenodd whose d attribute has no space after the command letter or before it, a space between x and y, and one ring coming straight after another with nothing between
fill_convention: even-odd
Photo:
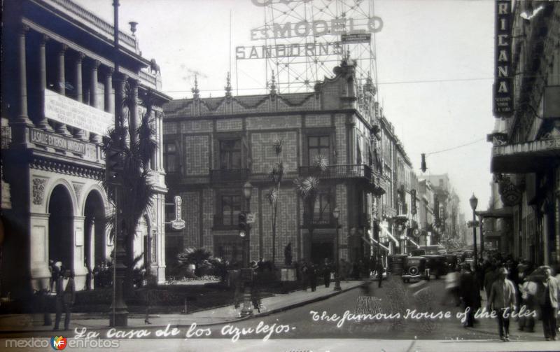
<instances>
[{"instance_id":1,"label":"arched doorway nearest the big shaggy tree, right of another arch","mask_svg":"<svg viewBox=\"0 0 560 352\"><path fill-rule=\"evenodd\" d=\"M106 260L105 206L97 190L92 190L85 199L84 208L84 266L87 269L85 286L90 290L92 272Z\"/></svg>"}]
</instances>

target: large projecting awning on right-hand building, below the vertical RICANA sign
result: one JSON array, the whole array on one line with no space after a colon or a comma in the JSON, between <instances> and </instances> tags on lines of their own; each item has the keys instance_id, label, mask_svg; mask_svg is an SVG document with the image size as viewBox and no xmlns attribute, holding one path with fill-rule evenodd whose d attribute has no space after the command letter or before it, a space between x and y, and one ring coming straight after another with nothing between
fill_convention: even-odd
<instances>
[{"instance_id":1,"label":"large projecting awning on right-hand building, below the vertical RICANA sign","mask_svg":"<svg viewBox=\"0 0 560 352\"><path fill-rule=\"evenodd\" d=\"M527 174L548 168L560 157L560 137L507 144L492 148L490 171L502 174Z\"/></svg>"}]
</instances>

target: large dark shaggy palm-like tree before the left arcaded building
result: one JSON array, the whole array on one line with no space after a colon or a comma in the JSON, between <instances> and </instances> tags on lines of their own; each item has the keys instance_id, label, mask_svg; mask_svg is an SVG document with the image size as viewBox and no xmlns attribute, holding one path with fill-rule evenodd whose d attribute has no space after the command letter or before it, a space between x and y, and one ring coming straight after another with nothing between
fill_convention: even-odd
<instances>
[{"instance_id":1,"label":"large dark shaggy palm-like tree before the left arcaded building","mask_svg":"<svg viewBox=\"0 0 560 352\"><path fill-rule=\"evenodd\" d=\"M131 90L126 90L127 96L123 99L123 107L125 109L125 118L130 118L130 111L134 106L134 99L131 97ZM146 107L146 113L141 117L139 127L134 128L134 123L129 123L128 127L120 124L109 130L103 143L103 150L107 152L116 148L122 150L120 160L123 171L116 176L118 188L118 202L116 202L116 188L103 183L104 188L109 195L109 199L118 209L119 232L115 234L114 228L111 229L111 236L123 236L124 247L126 252L125 266L127 272L125 276L125 293L132 292L132 279L134 270L134 237L136 237L136 229L141 216L148 211L153 204L153 196L155 191L150 181L150 160L158 148L155 141L155 130L152 124L152 106L153 94L148 91L146 96L141 99L140 104ZM112 227L114 218L107 222ZM149 268L146 268L149 270Z\"/></svg>"}]
</instances>

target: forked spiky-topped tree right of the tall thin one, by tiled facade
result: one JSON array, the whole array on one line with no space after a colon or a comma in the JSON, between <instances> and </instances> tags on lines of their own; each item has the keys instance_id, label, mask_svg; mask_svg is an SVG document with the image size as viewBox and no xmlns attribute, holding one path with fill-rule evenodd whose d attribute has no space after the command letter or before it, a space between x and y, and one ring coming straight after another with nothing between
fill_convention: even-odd
<instances>
[{"instance_id":1,"label":"forked spiky-topped tree right of the tall thin one, by tiled facade","mask_svg":"<svg viewBox=\"0 0 560 352\"><path fill-rule=\"evenodd\" d=\"M315 160L313 160L311 173L304 178L298 177L294 180L297 194L300 195L303 201L303 223L307 226L307 230L309 231L309 248L311 248L311 243L313 243L313 216L315 201L319 191L320 178L327 167L328 159L323 155L317 155Z\"/></svg>"}]
</instances>

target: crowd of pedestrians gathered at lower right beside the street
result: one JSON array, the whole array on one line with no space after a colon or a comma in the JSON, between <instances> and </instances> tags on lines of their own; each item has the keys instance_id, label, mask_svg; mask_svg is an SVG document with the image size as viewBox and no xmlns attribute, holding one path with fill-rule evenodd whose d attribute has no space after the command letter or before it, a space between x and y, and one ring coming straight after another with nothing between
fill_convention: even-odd
<instances>
[{"instance_id":1,"label":"crowd of pedestrians gathered at lower right beside the street","mask_svg":"<svg viewBox=\"0 0 560 352\"><path fill-rule=\"evenodd\" d=\"M535 265L528 260L516 261L511 256L493 255L472 271L470 264L447 274L445 287L453 302L468 311L463 325L472 327L475 312L482 307L481 291L486 298L486 311L493 312L502 341L510 339L510 318L515 316L519 330L534 332L535 320L542 321L547 341L556 341L558 332L559 279L551 267ZM521 313L521 314L520 314Z\"/></svg>"}]
</instances>

